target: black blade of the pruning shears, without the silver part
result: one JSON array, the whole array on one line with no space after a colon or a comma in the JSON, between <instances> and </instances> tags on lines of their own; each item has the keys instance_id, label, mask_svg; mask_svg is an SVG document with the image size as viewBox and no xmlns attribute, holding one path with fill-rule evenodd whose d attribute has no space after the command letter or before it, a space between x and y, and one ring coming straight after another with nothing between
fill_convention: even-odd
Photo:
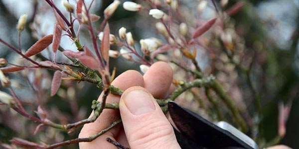
<instances>
[{"instance_id":1,"label":"black blade of the pruning shears, without the silver part","mask_svg":"<svg viewBox=\"0 0 299 149\"><path fill-rule=\"evenodd\" d=\"M186 139L191 142L194 149L253 149L230 132L223 130L215 124L207 121L199 115L178 105L175 102L168 103L170 116L181 134L176 134L183 144ZM185 138L184 138L185 137ZM180 145L181 145L180 144ZM193 145L194 144L194 145ZM188 148L183 149L191 149Z\"/></svg>"}]
</instances>

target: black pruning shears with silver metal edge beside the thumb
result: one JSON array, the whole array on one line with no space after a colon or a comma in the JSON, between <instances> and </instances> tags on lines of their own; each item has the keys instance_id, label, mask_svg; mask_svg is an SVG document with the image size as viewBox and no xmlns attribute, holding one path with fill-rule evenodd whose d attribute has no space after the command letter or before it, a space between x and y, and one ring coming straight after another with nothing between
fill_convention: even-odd
<instances>
[{"instance_id":1,"label":"black pruning shears with silver metal edge beside the thumb","mask_svg":"<svg viewBox=\"0 0 299 149\"><path fill-rule=\"evenodd\" d=\"M211 123L173 101L168 102L168 111L182 149L259 149L251 138L224 121Z\"/></svg>"}]
</instances>

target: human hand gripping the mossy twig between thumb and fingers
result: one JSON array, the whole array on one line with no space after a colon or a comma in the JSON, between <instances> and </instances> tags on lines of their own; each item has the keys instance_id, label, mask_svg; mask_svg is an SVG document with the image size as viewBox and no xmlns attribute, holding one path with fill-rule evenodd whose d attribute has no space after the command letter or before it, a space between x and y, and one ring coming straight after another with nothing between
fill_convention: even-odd
<instances>
[{"instance_id":1,"label":"human hand gripping the mossy twig between thumb and fingers","mask_svg":"<svg viewBox=\"0 0 299 149\"><path fill-rule=\"evenodd\" d=\"M120 116L123 125L112 128L90 143L80 143L80 149L118 149L106 138L131 149L180 149L169 121L153 98L165 98L174 90L172 75L172 69L164 62L154 63L144 76L137 71L119 75L112 85L125 92L121 97L109 94L107 103L119 102L121 115L117 110L104 109L94 123L84 125L79 138L95 135ZM103 93L98 100L102 96Z\"/></svg>"}]
</instances>

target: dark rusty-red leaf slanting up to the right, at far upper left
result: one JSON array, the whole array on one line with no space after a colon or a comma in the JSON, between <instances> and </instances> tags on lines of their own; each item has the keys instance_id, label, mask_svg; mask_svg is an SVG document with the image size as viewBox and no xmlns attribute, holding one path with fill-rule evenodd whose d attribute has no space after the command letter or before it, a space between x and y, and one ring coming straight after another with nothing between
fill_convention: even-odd
<instances>
[{"instance_id":1,"label":"dark rusty-red leaf slanting up to the right, at far upper left","mask_svg":"<svg viewBox=\"0 0 299 149\"><path fill-rule=\"evenodd\" d=\"M53 35L48 35L39 39L34 45L32 45L24 54L27 57L31 57L40 53L42 50L46 49L53 40Z\"/></svg>"}]
</instances>

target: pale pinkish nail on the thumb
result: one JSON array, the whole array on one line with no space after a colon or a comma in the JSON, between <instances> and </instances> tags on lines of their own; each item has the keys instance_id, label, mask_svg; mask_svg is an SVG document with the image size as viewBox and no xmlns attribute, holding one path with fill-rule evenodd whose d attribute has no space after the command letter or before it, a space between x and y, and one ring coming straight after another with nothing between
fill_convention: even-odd
<instances>
[{"instance_id":1,"label":"pale pinkish nail on the thumb","mask_svg":"<svg viewBox=\"0 0 299 149\"><path fill-rule=\"evenodd\" d=\"M127 93L125 103L134 115L142 115L155 110L155 106L148 92L132 90Z\"/></svg>"}]
</instances>

